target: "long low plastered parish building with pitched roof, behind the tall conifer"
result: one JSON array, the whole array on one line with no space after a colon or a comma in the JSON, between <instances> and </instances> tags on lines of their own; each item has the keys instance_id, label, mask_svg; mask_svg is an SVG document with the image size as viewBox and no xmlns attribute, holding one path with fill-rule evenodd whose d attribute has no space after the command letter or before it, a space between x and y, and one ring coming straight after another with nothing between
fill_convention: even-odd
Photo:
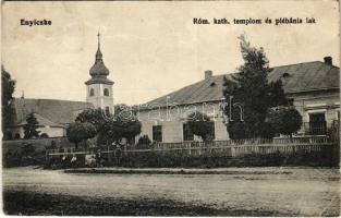
<instances>
[{"instance_id":1,"label":"long low plastered parish building with pitched roof, behind the tall conifer","mask_svg":"<svg viewBox=\"0 0 341 218\"><path fill-rule=\"evenodd\" d=\"M314 61L270 69L269 81L281 80L284 93L303 117L299 135L325 135L330 126L340 121L340 69L331 57L324 62ZM205 72L205 78L148 101L139 108L141 135L154 142L182 142L195 138L186 118L193 110L208 114L215 128L212 137L228 140L226 117L221 111L223 76ZM252 92L252 90L251 90Z\"/></svg>"}]
</instances>

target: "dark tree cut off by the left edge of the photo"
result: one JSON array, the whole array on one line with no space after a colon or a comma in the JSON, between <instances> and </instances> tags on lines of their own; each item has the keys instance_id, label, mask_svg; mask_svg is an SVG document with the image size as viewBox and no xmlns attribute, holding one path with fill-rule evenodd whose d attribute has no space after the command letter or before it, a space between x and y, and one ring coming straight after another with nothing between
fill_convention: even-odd
<instances>
[{"instance_id":1,"label":"dark tree cut off by the left edge of the photo","mask_svg":"<svg viewBox=\"0 0 341 218\"><path fill-rule=\"evenodd\" d=\"M2 95L2 133L7 140L5 131L14 122L14 108L12 106L15 81L11 78L11 74L1 65L1 95Z\"/></svg>"}]
</instances>

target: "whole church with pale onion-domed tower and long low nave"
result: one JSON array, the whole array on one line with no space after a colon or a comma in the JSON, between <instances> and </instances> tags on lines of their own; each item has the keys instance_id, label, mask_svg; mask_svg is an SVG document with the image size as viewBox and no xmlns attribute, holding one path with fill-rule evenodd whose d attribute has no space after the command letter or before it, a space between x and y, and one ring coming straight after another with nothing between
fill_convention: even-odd
<instances>
[{"instance_id":1,"label":"whole church with pale onion-domed tower and long low nave","mask_svg":"<svg viewBox=\"0 0 341 218\"><path fill-rule=\"evenodd\" d=\"M109 70L105 65L100 50L100 35L95 63L89 70L90 78L85 82L86 101L59 99L15 98L14 125L7 132L8 138L23 138L26 118L33 113L38 121L40 137L62 137L66 135L68 124L75 121L78 113L86 109L101 108L113 112L113 82L108 78Z\"/></svg>"}]
</instances>

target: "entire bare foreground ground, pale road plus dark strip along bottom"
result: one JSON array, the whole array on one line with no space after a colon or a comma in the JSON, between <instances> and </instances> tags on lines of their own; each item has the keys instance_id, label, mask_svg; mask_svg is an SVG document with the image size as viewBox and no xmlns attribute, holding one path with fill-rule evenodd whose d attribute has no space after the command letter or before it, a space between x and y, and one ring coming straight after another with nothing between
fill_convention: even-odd
<instances>
[{"instance_id":1,"label":"entire bare foreground ground, pale road plus dark strip along bottom","mask_svg":"<svg viewBox=\"0 0 341 218\"><path fill-rule=\"evenodd\" d=\"M145 216L340 214L339 169L229 168L217 171L220 172L88 174L33 168L4 169L4 213Z\"/></svg>"}]
</instances>

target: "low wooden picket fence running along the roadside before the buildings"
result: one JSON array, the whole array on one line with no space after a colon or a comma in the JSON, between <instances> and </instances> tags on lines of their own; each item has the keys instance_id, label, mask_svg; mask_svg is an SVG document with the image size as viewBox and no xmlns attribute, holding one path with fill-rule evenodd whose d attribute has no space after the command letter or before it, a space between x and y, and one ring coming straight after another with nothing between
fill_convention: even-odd
<instances>
[{"instance_id":1,"label":"low wooden picket fence running along the roadside before the buildings","mask_svg":"<svg viewBox=\"0 0 341 218\"><path fill-rule=\"evenodd\" d=\"M254 140L239 140L239 141L215 141L209 143L204 142L182 142L182 143L158 143L153 147L145 149L136 149L123 147L123 156L138 155L143 153L154 153L159 155L181 155L187 157L197 156L226 156L226 157L241 157L249 154L267 155L267 154L308 154L312 152L321 152L327 146L338 147L338 142L330 142L326 136L314 137L295 137L295 138L254 138ZM61 155L85 155L99 152L99 148L93 147L88 149L83 148L62 148L47 150L47 156ZM101 149L105 156L114 154L115 149Z\"/></svg>"}]
</instances>

